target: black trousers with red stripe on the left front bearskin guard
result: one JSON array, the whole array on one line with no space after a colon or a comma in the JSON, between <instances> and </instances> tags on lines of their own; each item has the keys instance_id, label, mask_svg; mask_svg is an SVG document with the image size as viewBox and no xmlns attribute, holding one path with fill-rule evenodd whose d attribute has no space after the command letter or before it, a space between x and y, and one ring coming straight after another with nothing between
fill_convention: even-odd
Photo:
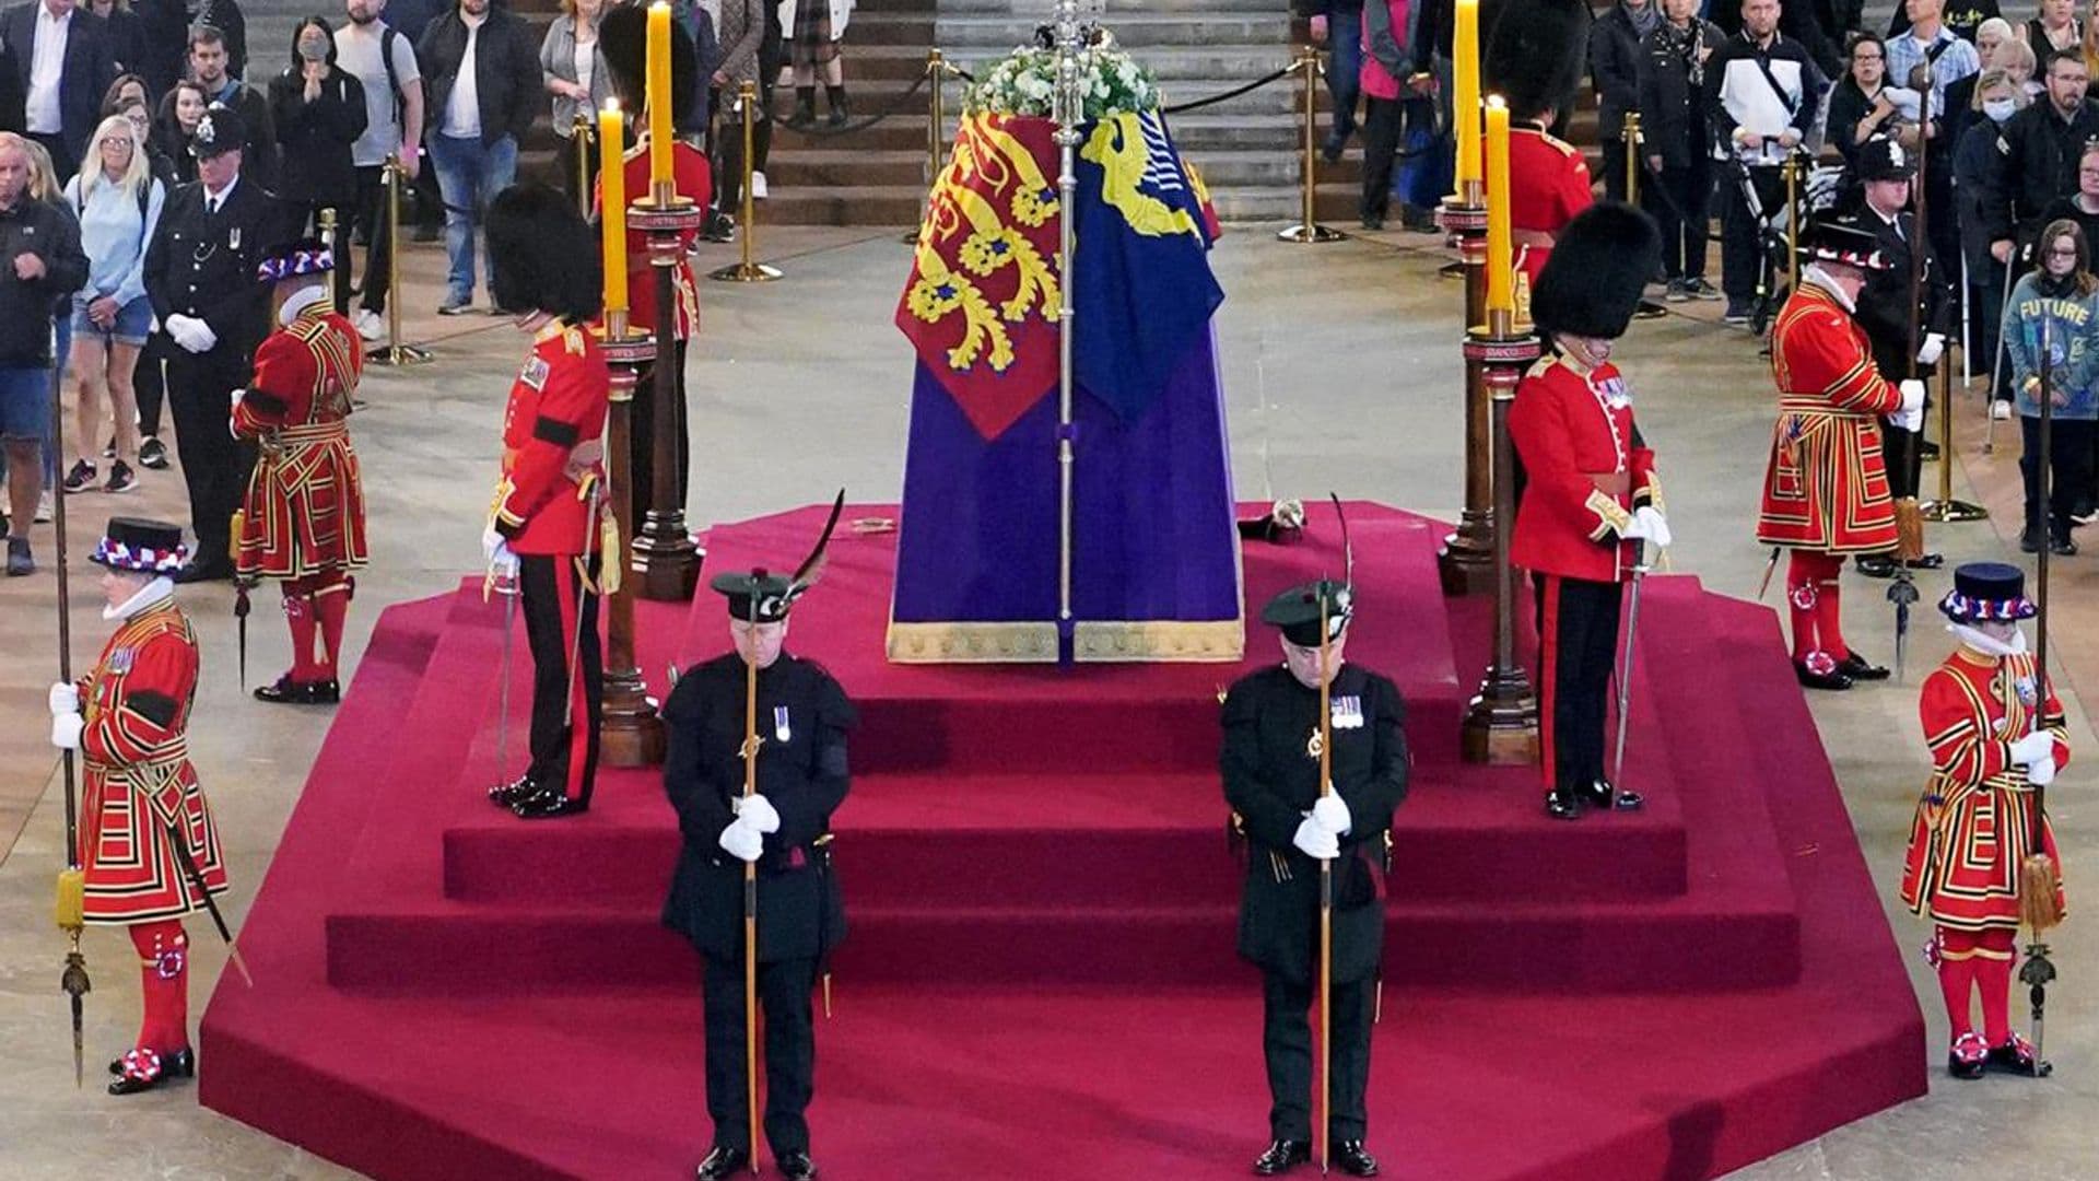
<instances>
[{"instance_id":1,"label":"black trousers with red stripe on the left front bearskin guard","mask_svg":"<svg viewBox=\"0 0 2099 1181\"><path fill-rule=\"evenodd\" d=\"M590 582L596 578L598 559L590 557ZM590 803L605 696L598 595L586 586L575 557L539 553L518 555L518 590L533 668L529 773L542 788Z\"/></svg>"}]
</instances>

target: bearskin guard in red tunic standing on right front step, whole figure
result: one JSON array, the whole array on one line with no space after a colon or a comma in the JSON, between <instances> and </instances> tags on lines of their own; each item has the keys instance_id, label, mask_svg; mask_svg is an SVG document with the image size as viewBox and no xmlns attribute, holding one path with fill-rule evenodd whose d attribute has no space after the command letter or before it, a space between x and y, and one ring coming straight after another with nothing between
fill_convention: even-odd
<instances>
[{"instance_id":1,"label":"bearskin guard in red tunic standing on right front step, whole figure","mask_svg":"<svg viewBox=\"0 0 2099 1181\"><path fill-rule=\"evenodd\" d=\"M1639 542L1669 544L1654 452L1633 424L1633 393L1612 340L1660 261L1654 219L1623 202L1591 206L1560 237L1530 307L1547 355L1509 406L1522 500L1509 561L1539 593L1545 811L1633 809L1639 792L1604 775L1604 719L1618 654L1625 580Z\"/></svg>"}]
</instances>

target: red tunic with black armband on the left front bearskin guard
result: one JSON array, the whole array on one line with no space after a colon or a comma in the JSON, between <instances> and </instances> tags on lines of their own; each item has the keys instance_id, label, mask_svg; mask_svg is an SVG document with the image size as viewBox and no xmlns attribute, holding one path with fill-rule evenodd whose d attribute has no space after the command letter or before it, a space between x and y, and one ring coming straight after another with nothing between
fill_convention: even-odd
<instances>
[{"instance_id":1,"label":"red tunic with black armband on the left front bearskin guard","mask_svg":"<svg viewBox=\"0 0 2099 1181\"><path fill-rule=\"evenodd\" d=\"M504 408L504 479L495 532L512 553L586 555L598 546L592 492L605 477L605 408L611 372L598 338L552 319Z\"/></svg>"}]
</instances>

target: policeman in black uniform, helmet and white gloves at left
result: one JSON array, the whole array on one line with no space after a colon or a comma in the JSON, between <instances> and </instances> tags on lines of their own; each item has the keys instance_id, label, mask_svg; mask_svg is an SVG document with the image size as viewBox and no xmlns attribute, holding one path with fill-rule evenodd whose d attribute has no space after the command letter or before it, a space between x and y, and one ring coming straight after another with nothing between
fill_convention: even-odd
<instances>
[{"instance_id":1,"label":"policeman in black uniform, helmet and white gloves at left","mask_svg":"<svg viewBox=\"0 0 2099 1181\"><path fill-rule=\"evenodd\" d=\"M239 111L222 103L204 111L189 143L197 181L168 198L145 252L145 294L172 343L168 406L197 534L197 557L176 582L233 576L233 511L256 464L254 441L227 431L227 406L269 334L269 288L254 273L283 237L283 214L277 198L241 174L246 141Z\"/></svg>"}]
</instances>

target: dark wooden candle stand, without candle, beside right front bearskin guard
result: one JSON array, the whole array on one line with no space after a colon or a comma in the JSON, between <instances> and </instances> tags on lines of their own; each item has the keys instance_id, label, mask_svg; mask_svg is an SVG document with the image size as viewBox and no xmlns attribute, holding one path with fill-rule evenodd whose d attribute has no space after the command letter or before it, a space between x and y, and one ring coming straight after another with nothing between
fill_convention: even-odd
<instances>
[{"instance_id":1,"label":"dark wooden candle stand, without candle, beside right front bearskin guard","mask_svg":"<svg viewBox=\"0 0 2099 1181\"><path fill-rule=\"evenodd\" d=\"M1539 338L1518 336L1511 315L1494 311L1488 324L1465 336L1467 368L1484 370L1492 399L1494 431L1494 519L1515 519L1515 446L1509 441L1509 403L1515 382L1539 359ZM1515 662L1515 567L1509 563L1509 530L1494 530L1494 658L1486 666L1480 691L1465 706L1461 750L1467 763L1536 763L1539 761L1539 698L1530 677Z\"/></svg>"}]
</instances>

